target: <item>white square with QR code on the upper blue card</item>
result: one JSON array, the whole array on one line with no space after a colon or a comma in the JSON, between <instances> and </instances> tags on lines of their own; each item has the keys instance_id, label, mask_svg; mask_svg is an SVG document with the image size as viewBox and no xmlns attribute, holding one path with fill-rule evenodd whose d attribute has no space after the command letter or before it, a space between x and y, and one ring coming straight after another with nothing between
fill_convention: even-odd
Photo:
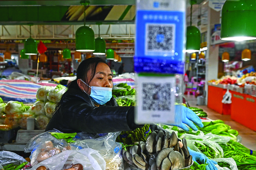
<instances>
[{"instance_id":1,"label":"white square with QR code on the upper blue card","mask_svg":"<svg viewBox=\"0 0 256 170\"><path fill-rule=\"evenodd\" d=\"M146 24L145 55L174 56L175 24Z\"/></svg>"}]
</instances>

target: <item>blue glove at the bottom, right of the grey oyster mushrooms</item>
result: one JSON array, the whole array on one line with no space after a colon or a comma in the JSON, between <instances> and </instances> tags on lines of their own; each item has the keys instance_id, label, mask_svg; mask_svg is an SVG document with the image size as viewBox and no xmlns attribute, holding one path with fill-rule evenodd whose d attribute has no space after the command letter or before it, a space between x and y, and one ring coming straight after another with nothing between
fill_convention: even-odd
<instances>
[{"instance_id":1,"label":"blue glove at the bottom, right of the grey oyster mushrooms","mask_svg":"<svg viewBox=\"0 0 256 170\"><path fill-rule=\"evenodd\" d=\"M208 164L206 166L206 170L218 170L217 167L214 165L214 164L218 164L216 161L208 159L203 153L193 151L189 147L188 147L188 151L190 155L192 155L193 161L196 163L198 163L197 160L199 160L201 163L204 163L206 159L206 163Z\"/></svg>"}]
</instances>

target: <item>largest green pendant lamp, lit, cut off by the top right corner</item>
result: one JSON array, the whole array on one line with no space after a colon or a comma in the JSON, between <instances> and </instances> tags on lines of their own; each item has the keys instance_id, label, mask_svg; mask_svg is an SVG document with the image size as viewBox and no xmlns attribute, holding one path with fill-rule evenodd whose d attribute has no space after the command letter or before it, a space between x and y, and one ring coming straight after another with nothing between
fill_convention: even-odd
<instances>
[{"instance_id":1,"label":"largest green pendant lamp, lit, cut off by the top right corner","mask_svg":"<svg viewBox=\"0 0 256 170\"><path fill-rule=\"evenodd\" d=\"M221 11L221 40L254 40L256 39L255 28L255 0L227 0L224 3Z\"/></svg>"}]
</instances>

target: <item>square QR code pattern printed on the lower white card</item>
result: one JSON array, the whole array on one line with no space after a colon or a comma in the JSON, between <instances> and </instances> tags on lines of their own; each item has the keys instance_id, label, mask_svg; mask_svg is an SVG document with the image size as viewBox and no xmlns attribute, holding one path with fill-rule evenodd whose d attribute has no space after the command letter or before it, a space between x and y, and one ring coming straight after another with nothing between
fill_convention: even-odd
<instances>
[{"instance_id":1,"label":"square QR code pattern printed on the lower white card","mask_svg":"<svg viewBox=\"0 0 256 170\"><path fill-rule=\"evenodd\" d=\"M171 102L171 83L142 83L143 111L170 111Z\"/></svg>"}]
</instances>

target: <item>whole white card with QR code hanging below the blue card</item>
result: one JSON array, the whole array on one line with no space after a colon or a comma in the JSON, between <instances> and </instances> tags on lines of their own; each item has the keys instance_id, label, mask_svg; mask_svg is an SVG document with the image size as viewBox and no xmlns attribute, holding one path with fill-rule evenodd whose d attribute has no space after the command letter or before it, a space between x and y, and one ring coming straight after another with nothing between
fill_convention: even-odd
<instances>
[{"instance_id":1,"label":"whole white card with QR code hanging below the blue card","mask_svg":"<svg viewBox=\"0 0 256 170\"><path fill-rule=\"evenodd\" d=\"M139 76L136 78L136 123L171 123L174 118L175 78Z\"/></svg>"}]
</instances>

